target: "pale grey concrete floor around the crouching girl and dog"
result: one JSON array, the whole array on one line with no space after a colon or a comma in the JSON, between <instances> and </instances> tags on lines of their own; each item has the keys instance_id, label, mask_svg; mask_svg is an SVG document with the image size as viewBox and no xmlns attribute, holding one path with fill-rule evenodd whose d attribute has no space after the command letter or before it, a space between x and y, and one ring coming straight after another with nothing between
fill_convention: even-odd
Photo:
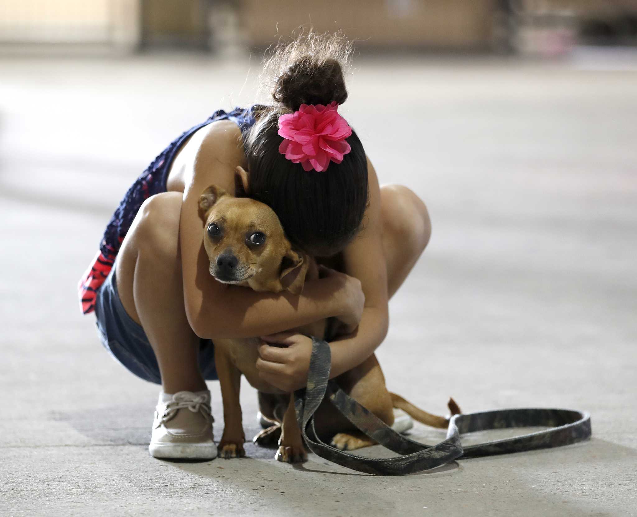
<instances>
[{"instance_id":1,"label":"pale grey concrete floor around the crouching girl and dog","mask_svg":"<svg viewBox=\"0 0 637 517\"><path fill-rule=\"evenodd\" d=\"M637 72L596 68L357 62L343 112L434 227L390 304L389 387L438 413L453 395L468 412L587 410L593 427L575 446L382 478L254 446L154 460L157 386L111 360L78 309L125 189L180 131L250 103L257 60L0 60L0 514L637 514ZM251 436L250 386L242 400Z\"/></svg>"}]
</instances>

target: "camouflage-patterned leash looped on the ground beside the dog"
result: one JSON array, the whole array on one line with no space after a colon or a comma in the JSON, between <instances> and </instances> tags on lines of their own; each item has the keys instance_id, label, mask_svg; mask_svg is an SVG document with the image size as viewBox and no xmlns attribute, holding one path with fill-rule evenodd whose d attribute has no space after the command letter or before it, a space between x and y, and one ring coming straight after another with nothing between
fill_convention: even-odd
<instances>
[{"instance_id":1,"label":"camouflage-patterned leash looped on the ground beside the dog","mask_svg":"<svg viewBox=\"0 0 637 517\"><path fill-rule=\"evenodd\" d=\"M501 409L483 413L456 414L449 421L447 437L429 446L394 431L329 380L331 350L326 341L312 338L308 386L294 393L296 419L310 450L331 462L385 476L413 474L440 467L458 458L559 447L590 437L590 414L570 409ZM393 458L363 458L324 443L317 435L314 413L327 399L361 432L399 454ZM460 435L468 432L512 427L550 427L509 439L462 447Z\"/></svg>"}]
</instances>

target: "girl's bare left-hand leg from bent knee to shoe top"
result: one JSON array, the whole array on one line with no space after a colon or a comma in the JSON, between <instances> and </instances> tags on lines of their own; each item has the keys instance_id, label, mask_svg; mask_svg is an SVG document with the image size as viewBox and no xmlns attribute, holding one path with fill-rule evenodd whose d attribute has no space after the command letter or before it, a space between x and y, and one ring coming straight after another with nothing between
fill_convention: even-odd
<instances>
[{"instance_id":1,"label":"girl's bare left-hand leg from bent knee to shoe top","mask_svg":"<svg viewBox=\"0 0 637 517\"><path fill-rule=\"evenodd\" d=\"M199 337L190 328L183 305L181 208L180 192L147 199L115 264L122 305L146 332L165 393L206 390L198 364Z\"/></svg>"}]
</instances>

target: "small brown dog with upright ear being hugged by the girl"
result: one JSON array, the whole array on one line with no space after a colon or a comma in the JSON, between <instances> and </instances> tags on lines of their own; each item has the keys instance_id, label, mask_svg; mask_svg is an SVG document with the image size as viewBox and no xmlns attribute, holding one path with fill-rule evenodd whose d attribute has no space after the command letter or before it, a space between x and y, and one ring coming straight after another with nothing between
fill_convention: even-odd
<instances>
[{"instance_id":1,"label":"small brown dog with upright ear being hugged by the girl","mask_svg":"<svg viewBox=\"0 0 637 517\"><path fill-rule=\"evenodd\" d=\"M199 198L199 215L204 222L203 242L210 258L210 274L216 280L256 291L288 290L292 294L299 294L305 280L318 278L315 260L292 249L278 217L267 205L246 197L232 197L221 188L211 185ZM294 329L294 332L322 338L326 333L326 322L315 322ZM259 357L257 348L261 343L258 338L215 339L215 364L225 420L224 434L218 446L219 454L225 458L245 455L239 401L243 373L250 385L261 392L262 399L268 399L263 394L271 393L282 396L275 398L283 399L286 404L284 412L271 407L270 414L266 415L281 424L276 459L290 463L304 461L307 454L297 425L293 398L259 377L256 362ZM336 381L345 392L387 425L394 422L394 407L400 407L415 420L427 425L448 425L446 418L426 413L399 395L389 393L375 355L342 374ZM273 397L268 400L273 400ZM452 413L459 413L452 400L449 407ZM276 413L284 414L277 416ZM316 415L318 434L333 437L332 443L338 448L353 450L375 443L352 427L329 402L324 401Z\"/></svg>"}]
</instances>

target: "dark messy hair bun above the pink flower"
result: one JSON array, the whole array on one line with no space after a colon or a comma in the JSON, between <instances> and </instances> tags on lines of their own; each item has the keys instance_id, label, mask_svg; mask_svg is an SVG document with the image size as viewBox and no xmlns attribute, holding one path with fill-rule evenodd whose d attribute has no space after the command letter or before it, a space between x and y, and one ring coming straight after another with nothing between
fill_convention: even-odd
<instances>
[{"instance_id":1,"label":"dark messy hair bun above the pink flower","mask_svg":"<svg viewBox=\"0 0 637 517\"><path fill-rule=\"evenodd\" d=\"M347 100L343 68L336 59L319 61L304 55L278 76L272 96L292 111L301 104L343 104Z\"/></svg>"}]
</instances>

